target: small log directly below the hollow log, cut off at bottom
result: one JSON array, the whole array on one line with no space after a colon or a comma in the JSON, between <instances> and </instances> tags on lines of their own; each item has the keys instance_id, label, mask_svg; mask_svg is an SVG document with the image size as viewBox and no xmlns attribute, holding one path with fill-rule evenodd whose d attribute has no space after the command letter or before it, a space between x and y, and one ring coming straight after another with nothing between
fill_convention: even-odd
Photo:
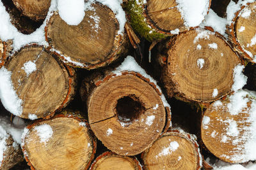
<instances>
[{"instance_id":1,"label":"small log directly below the hollow log, cut off at bottom","mask_svg":"<svg viewBox=\"0 0 256 170\"><path fill-rule=\"evenodd\" d=\"M113 152L104 152L94 160L90 170L123 169L142 170L142 166L136 157L126 157Z\"/></svg>"}]
</instances>

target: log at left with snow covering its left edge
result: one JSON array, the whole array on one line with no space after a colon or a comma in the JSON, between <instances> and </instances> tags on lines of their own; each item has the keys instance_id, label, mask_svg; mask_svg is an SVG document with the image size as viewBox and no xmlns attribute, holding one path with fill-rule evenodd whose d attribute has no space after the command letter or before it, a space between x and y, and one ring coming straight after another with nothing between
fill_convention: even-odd
<instances>
[{"instance_id":1,"label":"log at left with snow covering its left edge","mask_svg":"<svg viewBox=\"0 0 256 170\"><path fill-rule=\"evenodd\" d=\"M6 62L17 97L22 100L22 118L49 118L67 106L74 96L76 75L56 56L38 45L22 47Z\"/></svg>"}]
</instances>

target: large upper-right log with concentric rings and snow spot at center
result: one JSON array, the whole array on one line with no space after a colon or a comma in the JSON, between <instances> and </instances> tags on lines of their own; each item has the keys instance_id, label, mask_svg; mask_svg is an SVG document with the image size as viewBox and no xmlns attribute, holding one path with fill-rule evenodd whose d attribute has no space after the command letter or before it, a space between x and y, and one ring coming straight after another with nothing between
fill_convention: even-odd
<instances>
[{"instance_id":1,"label":"large upper-right log with concentric rings and snow spot at center","mask_svg":"<svg viewBox=\"0 0 256 170\"><path fill-rule=\"evenodd\" d=\"M169 97L210 103L229 94L237 54L217 32L193 29L157 45L156 71Z\"/></svg>"}]
</instances>

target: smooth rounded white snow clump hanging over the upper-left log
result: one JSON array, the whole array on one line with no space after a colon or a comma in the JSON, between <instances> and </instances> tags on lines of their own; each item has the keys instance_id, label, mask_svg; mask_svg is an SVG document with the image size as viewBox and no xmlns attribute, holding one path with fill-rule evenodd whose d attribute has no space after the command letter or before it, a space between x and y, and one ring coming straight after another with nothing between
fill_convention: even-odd
<instances>
[{"instance_id":1,"label":"smooth rounded white snow clump hanging over the upper-left log","mask_svg":"<svg viewBox=\"0 0 256 170\"><path fill-rule=\"evenodd\" d=\"M58 11L61 19L68 25L78 25L84 18L84 0L58 0Z\"/></svg>"}]
</instances>

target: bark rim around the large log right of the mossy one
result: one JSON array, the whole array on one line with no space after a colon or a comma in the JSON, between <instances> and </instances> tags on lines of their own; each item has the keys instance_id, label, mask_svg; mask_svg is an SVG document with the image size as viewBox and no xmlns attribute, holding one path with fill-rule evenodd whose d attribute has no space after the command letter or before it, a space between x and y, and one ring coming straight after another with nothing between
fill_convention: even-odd
<instances>
[{"instance_id":1,"label":"bark rim around the large log right of the mossy one","mask_svg":"<svg viewBox=\"0 0 256 170\"><path fill-rule=\"evenodd\" d=\"M195 30L198 29L199 27L195 27L195 28L191 28L189 31L191 30ZM234 51L234 48L232 48L232 45L227 41L227 39L225 39L225 37L223 35L221 35L219 32L214 31L214 29L212 29L212 27L204 27L205 30L207 31L211 31L214 33L214 36L217 36L218 38L222 39L223 41L225 41L225 43L230 47L230 49L236 53L238 59L241 61L241 64L244 64L244 60L243 57L236 51ZM185 32L180 32L180 34L186 34L187 31ZM161 47L161 51L167 50L166 48L170 49L171 46L173 46L175 44L175 41L177 39L177 36L172 36L170 39L166 40L166 42L164 43L164 46ZM159 50L159 49L158 49ZM168 50L167 50L168 51ZM187 99L186 97L184 97L184 94L180 93L176 88L175 88L175 83L170 80L170 78L168 78L168 72L167 72L167 60L168 60L168 56L163 56L163 55L157 55L156 57L156 62L157 64L161 67L161 73L160 73L160 80L165 84L168 84L170 87L165 87L164 89L169 89L166 90L166 93L168 94L168 97L175 97L176 99L180 100L180 101L184 101L187 103L198 103L202 106L205 105L209 105L209 103L212 103L214 101L218 101L219 99L222 99L223 97L226 97L228 94L232 94L232 90L230 89L230 92L228 92L227 94L218 97L218 99L214 99L211 101L202 101L202 100L191 100L191 99ZM164 82L164 80L168 80L168 82ZM170 90L171 89L171 90ZM169 91L169 92L168 92Z\"/></svg>"}]
</instances>

